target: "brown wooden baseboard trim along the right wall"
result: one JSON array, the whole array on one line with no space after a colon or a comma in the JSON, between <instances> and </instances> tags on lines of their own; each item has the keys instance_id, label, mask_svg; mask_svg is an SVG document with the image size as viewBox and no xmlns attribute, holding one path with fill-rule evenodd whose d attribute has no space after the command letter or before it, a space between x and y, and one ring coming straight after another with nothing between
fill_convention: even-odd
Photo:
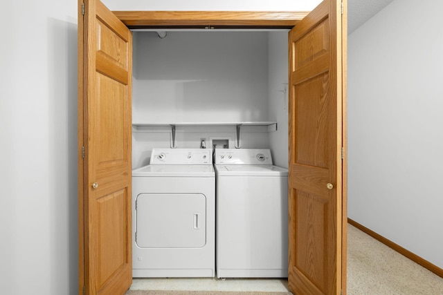
<instances>
[{"instance_id":1,"label":"brown wooden baseboard trim along the right wall","mask_svg":"<svg viewBox=\"0 0 443 295\"><path fill-rule=\"evenodd\" d=\"M363 225L359 224L359 222L356 222L350 218L347 218L347 222L350 225L356 227L357 229L360 229L365 234L368 234L369 236L372 236L372 238L378 240L379 242L382 242L384 245L399 252L399 254L406 256L410 260L413 260L415 263L422 265L422 267L428 269L430 272L433 272L437 276L440 276L443 278L443 269L441 269L440 267L437 267L437 265L433 265L428 260L424 260L420 256L413 254L413 252L404 249L404 247L401 247L401 246L395 244L395 242L392 242L391 240L388 240L387 238L380 236L375 231L372 231L372 230L368 229L368 227L364 227Z\"/></svg>"}]
</instances>

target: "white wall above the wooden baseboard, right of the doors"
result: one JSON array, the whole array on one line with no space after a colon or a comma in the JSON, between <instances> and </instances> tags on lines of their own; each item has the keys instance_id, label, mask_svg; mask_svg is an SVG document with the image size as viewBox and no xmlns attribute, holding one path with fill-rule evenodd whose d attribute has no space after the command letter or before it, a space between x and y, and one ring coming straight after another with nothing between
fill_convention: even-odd
<instances>
[{"instance_id":1,"label":"white wall above the wooden baseboard, right of the doors","mask_svg":"<svg viewBox=\"0 0 443 295\"><path fill-rule=\"evenodd\" d=\"M348 216L438 267L442 10L395 0L348 40Z\"/></svg>"}]
</instances>

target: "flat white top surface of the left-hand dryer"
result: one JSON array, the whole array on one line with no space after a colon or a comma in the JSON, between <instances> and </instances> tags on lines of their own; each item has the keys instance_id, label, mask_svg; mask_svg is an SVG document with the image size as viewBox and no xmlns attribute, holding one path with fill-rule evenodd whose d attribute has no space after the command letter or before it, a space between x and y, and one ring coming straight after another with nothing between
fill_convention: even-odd
<instances>
[{"instance_id":1,"label":"flat white top surface of the left-hand dryer","mask_svg":"<svg viewBox=\"0 0 443 295\"><path fill-rule=\"evenodd\" d=\"M147 165L134 169L132 177L214 177L213 165Z\"/></svg>"}]
</instances>

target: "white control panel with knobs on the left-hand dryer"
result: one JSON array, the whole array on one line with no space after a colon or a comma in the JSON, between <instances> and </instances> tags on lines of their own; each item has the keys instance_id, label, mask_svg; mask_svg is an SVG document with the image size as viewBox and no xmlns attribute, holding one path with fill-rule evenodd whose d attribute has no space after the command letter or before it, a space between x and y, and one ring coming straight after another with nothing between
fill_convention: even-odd
<instances>
[{"instance_id":1,"label":"white control panel with knobs on the left-hand dryer","mask_svg":"<svg viewBox=\"0 0 443 295\"><path fill-rule=\"evenodd\" d=\"M205 165L213 164L212 149L152 149L150 164Z\"/></svg>"}]
</instances>

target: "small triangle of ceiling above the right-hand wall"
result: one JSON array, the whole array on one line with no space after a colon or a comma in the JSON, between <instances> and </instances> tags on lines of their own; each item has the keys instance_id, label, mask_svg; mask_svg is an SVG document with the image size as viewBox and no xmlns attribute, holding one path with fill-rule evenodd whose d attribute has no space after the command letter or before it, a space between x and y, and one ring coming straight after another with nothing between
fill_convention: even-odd
<instances>
[{"instance_id":1,"label":"small triangle of ceiling above the right-hand wall","mask_svg":"<svg viewBox=\"0 0 443 295\"><path fill-rule=\"evenodd\" d=\"M347 0L347 34L351 34L394 0Z\"/></svg>"}]
</instances>

